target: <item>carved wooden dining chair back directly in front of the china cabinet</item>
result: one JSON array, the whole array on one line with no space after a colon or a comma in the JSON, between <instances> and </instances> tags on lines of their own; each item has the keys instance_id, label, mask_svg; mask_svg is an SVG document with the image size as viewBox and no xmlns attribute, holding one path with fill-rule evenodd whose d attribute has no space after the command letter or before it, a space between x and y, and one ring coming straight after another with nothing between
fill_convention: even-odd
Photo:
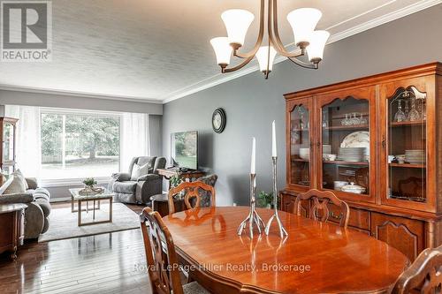
<instances>
[{"instance_id":1,"label":"carved wooden dining chair back directly in front of the china cabinet","mask_svg":"<svg viewBox=\"0 0 442 294\"><path fill-rule=\"evenodd\" d=\"M329 203L334 204L340 208L339 225L343 228L347 228L348 217L350 215L350 208L347 203L339 200L339 198L331 191L319 191L311 189L308 192L301 193L296 197L292 213L295 215L301 215L301 201L310 200L311 205L309 209L309 218L315 221L327 222L329 219L330 210L327 206ZM319 215L319 211L322 210L322 214Z\"/></svg>"}]
</instances>

